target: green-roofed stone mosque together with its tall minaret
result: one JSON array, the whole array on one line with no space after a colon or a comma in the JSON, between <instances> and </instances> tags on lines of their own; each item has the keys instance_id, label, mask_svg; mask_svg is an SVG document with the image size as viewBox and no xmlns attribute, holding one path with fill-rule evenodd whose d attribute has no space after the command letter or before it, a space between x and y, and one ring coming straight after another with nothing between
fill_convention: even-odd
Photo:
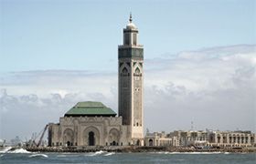
<instances>
[{"instance_id":1,"label":"green-roofed stone mosque together with its tall minaret","mask_svg":"<svg viewBox=\"0 0 256 164\"><path fill-rule=\"evenodd\" d=\"M144 46L129 21L118 46L118 117L101 102L78 102L48 124L48 146L144 146Z\"/></svg>"}]
</instances>

